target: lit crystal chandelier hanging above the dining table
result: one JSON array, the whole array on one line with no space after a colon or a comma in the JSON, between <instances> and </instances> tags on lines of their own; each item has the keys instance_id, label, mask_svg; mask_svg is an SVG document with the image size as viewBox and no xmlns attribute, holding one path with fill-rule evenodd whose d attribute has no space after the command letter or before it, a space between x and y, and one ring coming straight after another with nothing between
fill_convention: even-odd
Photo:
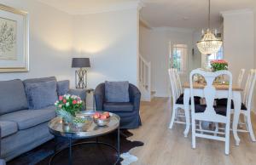
<instances>
[{"instance_id":1,"label":"lit crystal chandelier hanging above the dining table","mask_svg":"<svg viewBox=\"0 0 256 165\"><path fill-rule=\"evenodd\" d=\"M203 34L201 41L196 43L201 54L216 54L222 45L222 40L217 38L210 30L211 0L209 0L208 29Z\"/></svg>"}]
</instances>

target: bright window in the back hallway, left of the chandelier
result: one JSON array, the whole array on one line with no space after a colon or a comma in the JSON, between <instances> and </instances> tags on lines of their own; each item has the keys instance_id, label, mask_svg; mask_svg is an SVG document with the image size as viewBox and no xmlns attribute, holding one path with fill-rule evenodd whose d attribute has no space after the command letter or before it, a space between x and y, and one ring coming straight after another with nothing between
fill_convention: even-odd
<instances>
[{"instance_id":1,"label":"bright window in the back hallway, left of the chandelier","mask_svg":"<svg viewBox=\"0 0 256 165\"><path fill-rule=\"evenodd\" d=\"M186 44L174 44L171 55L171 67L177 68L177 71L186 71L186 57L188 46Z\"/></svg>"}]
</instances>

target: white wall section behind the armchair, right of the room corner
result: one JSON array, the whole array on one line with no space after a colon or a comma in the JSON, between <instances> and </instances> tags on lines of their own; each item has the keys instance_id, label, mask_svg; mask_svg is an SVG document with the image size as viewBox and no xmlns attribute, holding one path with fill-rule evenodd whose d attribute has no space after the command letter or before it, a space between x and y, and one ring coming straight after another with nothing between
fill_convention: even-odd
<instances>
[{"instance_id":1,"label":"white wall section behind the armchair, right of the room corner","mask_svg":"<svg viewBox=\"0 0 256 165\"><path fill-rule=\"evenodd\" d=\"M137 85L137 19L137 9L73 17L73 56L90 57L88 88L106 80Z\"/></svg>"}]
</instances>

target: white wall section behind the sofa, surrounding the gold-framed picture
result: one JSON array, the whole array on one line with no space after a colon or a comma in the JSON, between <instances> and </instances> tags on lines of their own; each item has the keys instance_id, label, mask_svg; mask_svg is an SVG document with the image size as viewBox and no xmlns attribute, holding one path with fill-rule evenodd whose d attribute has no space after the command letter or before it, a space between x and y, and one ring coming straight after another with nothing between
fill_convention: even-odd
<instances>
[{"instance_id":1,"label":"white wall section behind the sofa, surrounding the gold-framed picture","mask_svg":"<svg viewBox=\"0 0 256 165\"><path fill-rule=\"evenodd\" d=\"M0 80L49 76L71 78L71 16L32 0L1 0L1 3L29 13L30 71L0 73Z\"/></svg>"}]
</instances>

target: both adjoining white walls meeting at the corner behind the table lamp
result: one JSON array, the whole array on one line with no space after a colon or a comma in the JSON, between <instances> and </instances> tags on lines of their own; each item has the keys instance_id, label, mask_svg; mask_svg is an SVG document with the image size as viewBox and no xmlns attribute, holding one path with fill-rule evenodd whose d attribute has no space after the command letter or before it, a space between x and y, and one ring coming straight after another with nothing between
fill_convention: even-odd
<instances>
[{"instance_id":1,"label":"both adjoining white walls meeting at the corner behind the table lamp","mask_svg":"<svg viewBox=\"0 0 256 165\"><path fill-rule=\"evenodd\" d=\"M0 73L0 80L55 76L74 87L72 57L90 57L88 88L106 80L137 84L137 9L72 16L33 0L0 3L30 17L30 71Z\"/></svg>"}]
</instances>

